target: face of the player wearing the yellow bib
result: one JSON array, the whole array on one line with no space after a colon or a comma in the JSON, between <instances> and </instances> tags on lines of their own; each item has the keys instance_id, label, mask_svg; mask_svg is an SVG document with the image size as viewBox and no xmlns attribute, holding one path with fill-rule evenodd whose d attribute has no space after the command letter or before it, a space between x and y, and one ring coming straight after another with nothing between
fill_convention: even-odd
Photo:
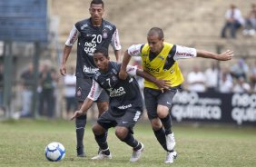
<instances>
[{"instance_id":1,"label":"face of the player wearing the yellow bib","mask_svg":"<svg viewBox=\"0 0 256 167\"><path fill-rule=\"evenodd\" d=\"M158 54L162 51L163 39L159 39L157 34L148 35L148 44L151 52Z\"/></svg>"}]
</instances>

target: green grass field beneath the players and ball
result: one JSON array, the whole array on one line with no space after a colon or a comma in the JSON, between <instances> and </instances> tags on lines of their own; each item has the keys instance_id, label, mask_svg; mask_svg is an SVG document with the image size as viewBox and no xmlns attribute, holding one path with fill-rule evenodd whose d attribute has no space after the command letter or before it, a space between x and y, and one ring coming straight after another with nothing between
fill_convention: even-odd
<instances>
[{"instance_id":1,"label":"green grass field beneath the players and ball","mask_svg":"<svg viewBox=\"0 0 256 167\"><path fill-rule=\"evenodd\" d=\"M86 158L75 156L74 122L64 120L21 120L0 122L0 166L256 166L256 127L173 123L178 158L164 164L166 152L156 141L148 122L138 123L135 137L145 145L139 162L129 162L132 149L109 132L113 159L94 162L97 144L88 123L84 136ZM62 142L66 156L61 162L48 162L44 148L49 142Z\"/></svg>"}]
</instances>

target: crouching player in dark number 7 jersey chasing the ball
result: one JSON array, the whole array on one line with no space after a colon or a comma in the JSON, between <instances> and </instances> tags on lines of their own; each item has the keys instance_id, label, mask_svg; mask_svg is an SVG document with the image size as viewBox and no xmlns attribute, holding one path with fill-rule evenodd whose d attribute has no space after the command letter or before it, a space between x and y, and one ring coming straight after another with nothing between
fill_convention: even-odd
<instances>
[{"instance_id":1,"label":"crouching player in dark number 7 jersey chasing the ball","mask_svg":"<svg viewBox=\"0 0 256 167\"><path fill-rule=\"evenodd\" d=\"M137 69L136 66L127 66L125 73L128 74L125 80L120 80L118 74L121 64L110 62L108 52L103 47L94 51L94 62L99 68L93 79L91 92L84 100L80 110L74 113L71 118L77 118L92 106L103 90L110 97L109 109L104 112L93 127L94 137L101 151L93 160L112 159L111 152L106 141L105 133L109 128L115 127L116 136L133 147L133 154L130 162L140 159L144 146L133 137L133 126L138 122L143 113L143 97L139 85L133 76L136 74L156 83L161 88L167 88L165 81L155 80L150 74Z\"/></svg>"}]
</instances>

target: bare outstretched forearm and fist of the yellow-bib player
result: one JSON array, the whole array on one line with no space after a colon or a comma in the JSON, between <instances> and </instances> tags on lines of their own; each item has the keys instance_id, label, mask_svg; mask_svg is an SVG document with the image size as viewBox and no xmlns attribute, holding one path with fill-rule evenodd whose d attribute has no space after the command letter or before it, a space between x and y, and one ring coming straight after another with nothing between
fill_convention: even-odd
<instances>
[{"instance_id":1,"label":"bare outstretched forearm and fist of the yellow-bib player","mask_svg":"<svg viewBox=\"0 0 256 167\"><path fill-rule=\"evenodd\" d=\"M233 55L234 55L233 51L230 51L230 50L227 50L222 54L213 54L208 51L197 50L197 57L211 58L211 59L216 59L216 60L220 60L220 61L231 60Z\"/></svg>"}]
</instances>

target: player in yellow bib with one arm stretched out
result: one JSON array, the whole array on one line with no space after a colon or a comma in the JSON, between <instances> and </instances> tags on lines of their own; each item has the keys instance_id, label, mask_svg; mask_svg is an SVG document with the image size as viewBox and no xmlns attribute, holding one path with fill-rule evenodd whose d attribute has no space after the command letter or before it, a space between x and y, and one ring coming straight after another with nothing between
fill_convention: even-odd
<instances>
[{"instance_id":1,"label":"player in yellow bib with one arm stretched out","mask_svg":"<svg viewBox=\"0 0 256 167\"><path fill-rule=\"evenodd\" d=\"M183 47L164 42L161 28L153 27L147 34L147 44L133 44L125 51L123 64L119 73L120 79L126 79L126 66L131 56L141 56L143 70L156 79L169 81L169 89L161 90L154 83L144 81L144 99L148 118L152 124L153 133L162 148L167 152L165 163L172 163L177 152L174 151L175 139L172 133L170 109L172 98L180 89L183 76L177 60L182 58L203 57L220 61L231 60L233 53L213 54L203 50Z\"/></svg>"}]
</instances>

